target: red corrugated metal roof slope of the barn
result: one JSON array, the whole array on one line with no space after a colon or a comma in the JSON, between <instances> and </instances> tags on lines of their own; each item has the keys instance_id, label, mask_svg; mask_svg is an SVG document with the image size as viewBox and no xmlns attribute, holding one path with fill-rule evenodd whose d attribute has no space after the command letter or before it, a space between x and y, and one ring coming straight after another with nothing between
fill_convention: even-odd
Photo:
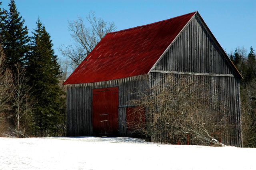
<instances>
[{"instance_id":1,"label":"red corrugated metal roof slope of the barn","mask_svg":"<svg viewBox=\"0 0 256 170\"><path fill-rule=\"evenodd\" d=\"M148 74L195 13L106 34L64 84Z\"/></svg>"}]
</instances>

